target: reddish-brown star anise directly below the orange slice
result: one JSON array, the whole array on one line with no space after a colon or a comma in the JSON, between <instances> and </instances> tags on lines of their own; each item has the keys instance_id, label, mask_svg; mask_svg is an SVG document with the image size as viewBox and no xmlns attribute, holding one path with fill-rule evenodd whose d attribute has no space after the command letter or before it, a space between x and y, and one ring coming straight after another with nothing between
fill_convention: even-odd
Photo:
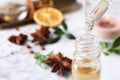
<instances>
[{"instance_id":1,"label":"reddish-brown star anise directly below the orange slice","mask_svg":"<svg viewBox=\"0 0 120 80\"><path fill-rule=\"evenodd\" d=\"M33 37L32 42L38 42L40 45L45 45L48 43L49 34L49 28L41 26L41 28L37 29L35 33L31 34Z\"/></svg>"}]
</instances>

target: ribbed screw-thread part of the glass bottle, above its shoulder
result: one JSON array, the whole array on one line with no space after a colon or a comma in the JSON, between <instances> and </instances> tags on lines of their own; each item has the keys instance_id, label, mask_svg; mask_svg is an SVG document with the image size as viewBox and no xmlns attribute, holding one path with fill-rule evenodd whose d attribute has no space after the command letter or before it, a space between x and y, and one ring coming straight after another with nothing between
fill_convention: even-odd
<instances>
[{"instance_id":1,"label":"ribbed screw-thread part of the glass bottle, above its shoulder","mask_svg":"<svg viewBox=\"0 0 120 80\"><path fill-rule=\"evenodd\" d=\"M75 43L77 54L84 57L97 57L100 54L100 43L92 34L81 35Z\"/></svg>"}]
</instances>

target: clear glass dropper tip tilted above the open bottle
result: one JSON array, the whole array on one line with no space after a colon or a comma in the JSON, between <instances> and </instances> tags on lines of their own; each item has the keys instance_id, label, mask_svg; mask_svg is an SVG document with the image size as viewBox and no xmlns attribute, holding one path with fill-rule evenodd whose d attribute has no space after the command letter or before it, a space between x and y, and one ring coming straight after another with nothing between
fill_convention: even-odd
<instances>
[{"instance_id":1,"label":"clear glass dropper tip tilted above the open bottle","mask_svg":"<svg viewBox=\"0 0 120 80\"><path fill-rule=\"evenodd\" d=\"M100 19L108 10L112 0L101 0L95 9L90 13L86 22L88 24L88 30L92 30L94 22Z\"/></svg>"}]
</instances>

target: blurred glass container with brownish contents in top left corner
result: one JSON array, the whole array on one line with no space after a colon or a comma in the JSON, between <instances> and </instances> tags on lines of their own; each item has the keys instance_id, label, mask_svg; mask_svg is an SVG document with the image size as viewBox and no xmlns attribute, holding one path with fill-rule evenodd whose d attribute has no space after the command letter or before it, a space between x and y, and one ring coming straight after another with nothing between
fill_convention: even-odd
<instances>
[{"instance_id":1,"label":"blurred glass container with brownish contents in top left corner","mask_svg":"<svg viewBox=\"0 0 120 80\"><path fill-rule=\"evenodd\" d=\"M0 18L7 21L23 20L28 14L25 0L0 0Z\"/></svg>"}]
</instances>

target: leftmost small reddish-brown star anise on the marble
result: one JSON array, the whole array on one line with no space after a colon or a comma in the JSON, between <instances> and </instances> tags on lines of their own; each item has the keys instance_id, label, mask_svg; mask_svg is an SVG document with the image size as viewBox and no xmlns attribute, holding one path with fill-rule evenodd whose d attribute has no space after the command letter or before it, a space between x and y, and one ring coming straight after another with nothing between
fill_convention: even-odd
<instances>
[{"instance_id":1,"label":"leftmost small reddish-brown star anise on the marble","mask_svg":"<svg viewBox=\"0 0 120 80\"><path fill-rule=\"evenodd\" d=\"M8 40L15 44L24 45L27 40L27 37L28 36L25 34L20 34L18 36L12 35L8 38Z\"/></svg>"}]
</instances>

